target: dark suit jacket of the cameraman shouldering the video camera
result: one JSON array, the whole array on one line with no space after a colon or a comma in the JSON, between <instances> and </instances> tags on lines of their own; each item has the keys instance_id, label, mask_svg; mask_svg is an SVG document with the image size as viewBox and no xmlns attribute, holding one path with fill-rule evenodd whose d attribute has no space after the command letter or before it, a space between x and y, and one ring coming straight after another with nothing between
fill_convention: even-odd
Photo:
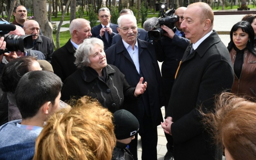
<instances>
[{"instance_id":1,"label":"dark suit jacket of the cameraman shouldering the video camera","mask_svg":"<svg viewBox=\"0 0 256 160\"><path fill-rule=\"evenodd\" d=\"M173 30L173 32L175 33L175 31L176 28ZM153 41L153 45L156 51L156 58L159 62L163 62L161 73L166 100L164 105L165 107L168 106L172 92L172 85L174 83L174 77L189 43L190 41L185 38L185 35L174 35L172 39L167 36L162 36L160 41Z\"/></svg>"}]
</instances>

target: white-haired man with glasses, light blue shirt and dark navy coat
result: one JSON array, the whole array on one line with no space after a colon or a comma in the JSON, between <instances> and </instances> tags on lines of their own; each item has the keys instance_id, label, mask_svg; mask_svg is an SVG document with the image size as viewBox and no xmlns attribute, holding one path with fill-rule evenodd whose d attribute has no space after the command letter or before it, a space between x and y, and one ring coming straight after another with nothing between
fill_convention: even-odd
<instances>
[{"instance_id":1,"label":"white-haired man with glasses, light blue shirt and dark navy coat","mask_svg":"<svg viewBox=\"0 0 256 160\"><path fill-rule=\"evenodd\" d=\"M161 107L164 106L163 84L156 60L153 44L137 38L137 21L135 16L125 14L117 20L117 31L121 38L106 50L107 63L115 65L125 75L127 82L136 87L137 81L149 84L140 100L125 101L124 109L131 112L139 121L142 142L142 159L157 159L157 125L163 121ZM144 82L143 82L144 83ZM129 149L138 159L138 134L129 144Z\"/></svg>"}]
</instances>

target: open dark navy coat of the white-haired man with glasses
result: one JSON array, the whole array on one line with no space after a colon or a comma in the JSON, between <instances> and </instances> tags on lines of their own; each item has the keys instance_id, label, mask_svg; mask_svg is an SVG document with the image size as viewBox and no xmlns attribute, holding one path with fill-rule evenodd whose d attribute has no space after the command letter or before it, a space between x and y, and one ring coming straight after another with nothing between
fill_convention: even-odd
<instances>
[{"instance_id":1,"label":"open dark navy coat of the white-haired man with glasses","mask_svg":"<svg viewBox=\"0 0 256 160\"><path fill-rule=\"evenodd\" d=\"M139 47L140 74L138 74L131 56L124 47L122 39L106 50L106 58L108 64L115 65L120 69L132 87L136 87L140 76L143 75L144 81L147 81L148 85L146 92L142 94L142 100L139 100L140 104L133 101L124 101L124 107L136 116L140 124L144 111L148 111L149 113L147 114L151 116L153 126L157 126L163 120L160 109L164 105L161 73L156 60L154 46L138 38L137 41ZM141 107L141 103L144 104L144 108Z\"/></svg>"}]
</instances>

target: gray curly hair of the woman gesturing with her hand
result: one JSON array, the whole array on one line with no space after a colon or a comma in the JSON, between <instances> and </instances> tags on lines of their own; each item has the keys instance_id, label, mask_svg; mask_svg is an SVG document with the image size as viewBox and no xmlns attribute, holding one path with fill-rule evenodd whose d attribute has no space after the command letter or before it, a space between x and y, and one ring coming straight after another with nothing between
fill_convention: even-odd
<instances>
[{"instance_id":1,"label":"gray curly hair of the woman gesturing with her hand","mask_svg":"<svg viewBox=\"0 0 256 160\"><path fill-rule=\"evenodd\" d=\"M77 68L83 69L90 65L91 61L89 60L89 56L93 54L93 47L95 44L100 45L100 47L104 49L103 41L95 37L84 39L84 42L79 44L75 53L75 65Z\"/></svg>"}]
</instances>

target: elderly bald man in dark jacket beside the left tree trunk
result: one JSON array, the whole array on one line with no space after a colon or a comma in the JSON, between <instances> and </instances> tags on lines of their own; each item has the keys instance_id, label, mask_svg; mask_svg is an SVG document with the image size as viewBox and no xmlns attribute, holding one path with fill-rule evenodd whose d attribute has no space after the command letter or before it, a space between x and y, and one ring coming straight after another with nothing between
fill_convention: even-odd
<instances>
[{"instance_id":1,"label":"elderly bald man in dark jacket beside the left tree trunk","mask_svg":"<svg viewBox=\"0 0 256 160\"><path fill-rule=\"evenodd\" d=\"M35 20L27 20L23 27L26 35L33 36L33 50L41 51L45 60L51 62L53 46L50 38L39 35L39 24Z\"/></svg>"}]
</instances>

